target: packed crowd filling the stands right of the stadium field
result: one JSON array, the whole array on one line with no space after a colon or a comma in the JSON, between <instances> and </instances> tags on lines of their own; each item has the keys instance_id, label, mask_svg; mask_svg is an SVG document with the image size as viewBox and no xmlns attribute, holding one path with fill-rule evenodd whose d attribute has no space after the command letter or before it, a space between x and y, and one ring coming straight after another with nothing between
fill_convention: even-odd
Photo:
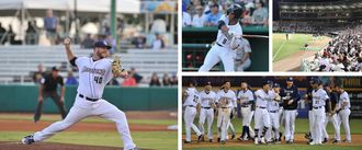
<instances>
[{"instance_id":1,"label":"packed crowd filling the stands right of the stadium field","mask_svg":"<svg viewBox=\"0 0 362 150\"><path fill-rule=\"evenodd\" d=\"M339 33L308 62L313 71L362 71L362 26Z\"/></svg>"}]
</instances>

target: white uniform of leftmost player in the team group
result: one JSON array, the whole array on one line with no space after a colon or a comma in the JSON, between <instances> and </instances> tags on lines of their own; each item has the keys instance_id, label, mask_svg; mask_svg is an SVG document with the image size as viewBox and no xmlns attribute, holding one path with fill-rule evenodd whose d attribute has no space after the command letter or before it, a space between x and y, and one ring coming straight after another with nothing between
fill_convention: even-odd
<instances>
[{"instance_id":1,"label":"white uniform of leftmost player in the team group","mask_svg":"<svg viewBox=\"0 0 362 150\"><path fill-rule=\"evenodd\" d=\"M199 101L199 93L195 88L188 88L185 90L186 99L183 103L184 114L183 119L185 124L185 131L186 131L186 141L191 141L191 128L196 132L197 136L202 135L199 128L193 124L193 120L196 116L196 106Z\"/></svg>"}]
</instances>

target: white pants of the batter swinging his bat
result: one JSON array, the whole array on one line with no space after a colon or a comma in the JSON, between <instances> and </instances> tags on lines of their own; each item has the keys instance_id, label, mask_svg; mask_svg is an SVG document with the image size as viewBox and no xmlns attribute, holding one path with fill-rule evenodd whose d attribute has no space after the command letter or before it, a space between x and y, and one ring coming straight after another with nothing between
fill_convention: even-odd
<instances>
[{"instance_id":1,"label":"white pants of the batter swinging his bat","mask_svg":"<svg viewBox=\"0 0 362 150\"><path fill-rule=\"evenodd\" d=\"M225 72L234 72L234 59L236 53L231 49L214 45L207 53L204 65L201 66L199 72L210 71L217 62L223 61Z\"/></svg>"}]
</instances>

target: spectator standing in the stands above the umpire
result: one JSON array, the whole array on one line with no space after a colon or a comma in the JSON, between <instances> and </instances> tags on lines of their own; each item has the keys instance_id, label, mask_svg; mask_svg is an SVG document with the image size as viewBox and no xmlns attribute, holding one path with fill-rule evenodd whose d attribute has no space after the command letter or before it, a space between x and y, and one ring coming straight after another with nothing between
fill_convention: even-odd
<instances>
[{"instance_id":1,"label":"spectator standing in the stands above the umpire","mask_svg":"<svg viewBox=\"0 0 362 150\"><path fill-rule=\"evenodd\" d=\"M46 31L46 38L48 38L52 45L55 45L57 41L57 26L58 20L53 15L53 10L47 10L46 16L44 18L44 27Z\"/></svg>"}]
</instances>

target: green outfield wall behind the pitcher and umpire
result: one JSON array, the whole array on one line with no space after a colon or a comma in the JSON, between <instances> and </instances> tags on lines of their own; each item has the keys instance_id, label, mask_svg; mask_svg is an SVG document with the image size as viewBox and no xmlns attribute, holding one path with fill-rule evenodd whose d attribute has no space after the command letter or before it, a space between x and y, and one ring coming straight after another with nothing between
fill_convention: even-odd
<instances>
[{"instance_id":1,"label":"green outfield wall behind the pitcher and umpire","mask_svg":"<svg viewBox=\"0 0 362 150\"><path fill-rule=\"evenodd\" d=\"M77 86L67 85L65 104L69 111L75 102ZM37 85L0 85L0 112L34 112L37 105ZM177 88L121 88L106 86L103 99L122 111L177 109ZM50 99L43 103L45 113L57 113Z\"/></svg>"}]
</instances>

